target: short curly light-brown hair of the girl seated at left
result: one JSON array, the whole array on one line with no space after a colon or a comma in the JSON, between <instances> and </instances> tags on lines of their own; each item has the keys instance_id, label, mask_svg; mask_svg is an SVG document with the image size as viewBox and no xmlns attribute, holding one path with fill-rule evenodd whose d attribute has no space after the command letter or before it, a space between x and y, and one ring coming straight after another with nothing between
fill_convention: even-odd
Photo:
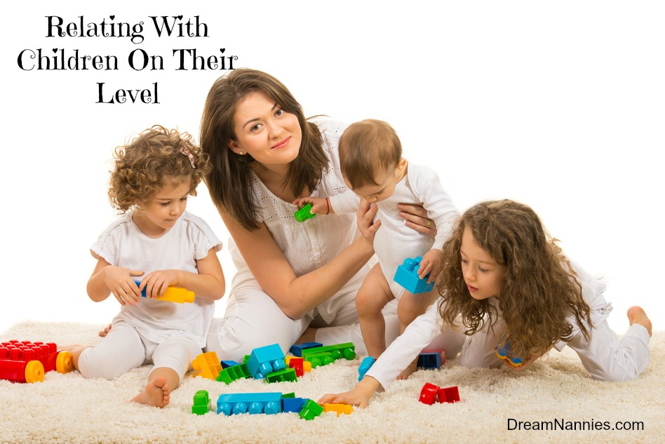
<instances>
[{"instance_id":1,"label":"short curly light-brown hair of the girl seated at left","mask_svg":"<svg viewBox=\"0 0 665 444\"><path fill-rule=\"evenodd\" d=\"M169 180L189 177L189 195L196 196L196 187L210 170L208 154L192 142L189 133L181 134L161 125L148 128L129 144L116 147L114 159L109 201L121 214L145 206Z\"/></svg>"}]
</instances>

